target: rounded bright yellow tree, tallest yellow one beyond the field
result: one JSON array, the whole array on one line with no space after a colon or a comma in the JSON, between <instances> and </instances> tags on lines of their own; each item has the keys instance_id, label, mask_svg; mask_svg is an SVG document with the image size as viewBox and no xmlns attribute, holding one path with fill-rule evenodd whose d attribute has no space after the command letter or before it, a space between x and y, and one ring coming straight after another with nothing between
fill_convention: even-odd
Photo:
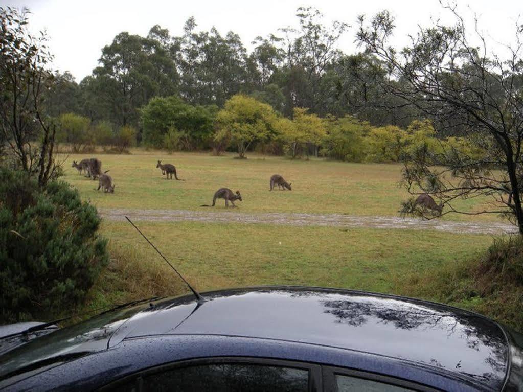
<instances>
[{"instance_id":1,"label":"rounded bright yellow tree, tallest yellow one beyond the field","mask_svg":"<svg viewBox=\"0 0 523 392\"><path fill-rule=\"evenodd\" d=\"M264 140L275 132L276 113L267 105L245 95L235 95L217 115L214 139L230 140L237 146L240 158L245 158L253 142Z\"/></svg>"}]
</instances>

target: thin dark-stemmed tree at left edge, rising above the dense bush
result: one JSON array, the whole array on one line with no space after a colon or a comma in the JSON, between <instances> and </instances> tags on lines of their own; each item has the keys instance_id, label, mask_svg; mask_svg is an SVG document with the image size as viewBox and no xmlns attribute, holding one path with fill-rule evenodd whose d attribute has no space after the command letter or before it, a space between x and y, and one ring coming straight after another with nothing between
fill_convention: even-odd
<instances>
[{"instance_id":1,"label":"thin dark-stemmed tree at left edge, rising above the dense bush","mask_svg":"<svg viewBox=\"0 0 523 392\"><path fill-rule=\"evenodd\" d=\"M27 14L0 7L0 150L7 144L16 164L44 186L56 174L56 127L42 105L43 91L53 83L46 68L52 56L46 35L27 31Z\"/></svg>"}]
</instances>

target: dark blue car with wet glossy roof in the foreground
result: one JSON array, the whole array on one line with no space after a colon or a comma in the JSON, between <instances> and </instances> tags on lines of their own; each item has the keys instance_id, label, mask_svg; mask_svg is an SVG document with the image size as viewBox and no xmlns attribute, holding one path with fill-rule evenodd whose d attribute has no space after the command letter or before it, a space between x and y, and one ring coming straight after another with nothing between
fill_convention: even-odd
<instances>
[{"instance_id":1,"label":"dark blue car with wet glossy roof in the foreground","mask_svg":"<svg viewBox=\"0 0 523 392\"><path fill-rule=\"evenodd\" d=\"M203 296L11 333L0 389L523 391L523 336L465 310L311 287Z\"/></svg>"}]
</instances>

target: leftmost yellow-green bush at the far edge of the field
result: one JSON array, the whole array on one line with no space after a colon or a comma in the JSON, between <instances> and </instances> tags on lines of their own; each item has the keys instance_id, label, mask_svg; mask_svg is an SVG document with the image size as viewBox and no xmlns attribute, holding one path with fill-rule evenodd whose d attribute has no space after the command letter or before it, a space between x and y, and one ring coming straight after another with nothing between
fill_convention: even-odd
<instances>
[{"instance_id":1,"label":"leftmost yellow-green bush at the far edge of the field","mask_svg":"<svg viewBox=\"0 0 523 392\"><path fill-rule=\"evenodd\" d=\"M65 113L59 117L58 122L56 141L71 144L75 153L84 151L94 142L93 135L90 133L91 120L87 117Z\"/></svg>"}]
</instances>

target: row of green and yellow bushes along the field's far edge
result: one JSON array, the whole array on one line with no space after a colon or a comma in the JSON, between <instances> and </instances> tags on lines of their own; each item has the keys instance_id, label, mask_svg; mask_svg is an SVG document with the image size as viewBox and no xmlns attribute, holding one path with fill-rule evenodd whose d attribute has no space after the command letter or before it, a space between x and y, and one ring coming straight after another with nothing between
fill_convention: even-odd
<instances>
[{"instance_id":1,"label":"row of green and yellow bushes along the field's far edge","mask_svg":"<svg viewBox=\"0 0 523 392\"><path fill-rule=\"evenodd\" d=\"M214 154L248 151L287 155L290 158L324 156L347 162L399 162L425 149L430 154L450 150L474 155L460 137L436 139L430 120L413 120L406 128L374 126L353 116L319 117L305 108L294 108L292 118L267 103L235 95L216 106L192 106L177 96L155 97L140 109L141 145L172 151L213 149ZM94 145L121 153L132 146L136 130L107 121L67 113L59 117L59 141L75 152ZM480 152L478 152L479 154Z\"/></svg>"}]
</instances>

